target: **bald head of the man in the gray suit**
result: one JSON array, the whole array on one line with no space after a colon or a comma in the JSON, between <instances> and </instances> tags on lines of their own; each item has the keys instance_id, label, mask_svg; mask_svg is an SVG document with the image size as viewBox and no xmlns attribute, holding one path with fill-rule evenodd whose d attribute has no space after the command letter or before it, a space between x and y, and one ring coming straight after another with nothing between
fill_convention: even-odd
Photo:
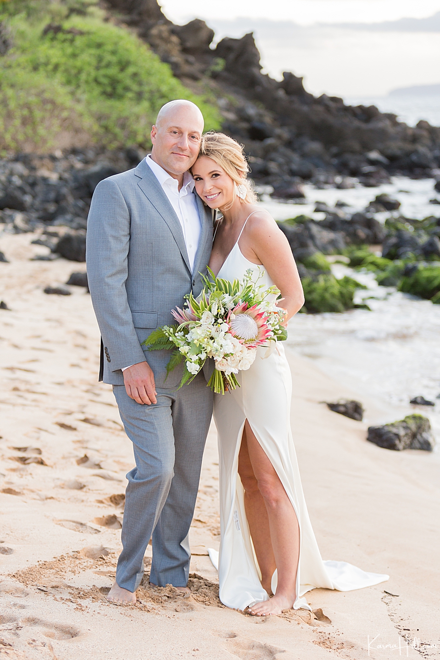
<instances>
[{"instance_id":1,"label":"bald head of the man in the gray suit","mask_svg":"<svg viewBox=\"0 0 440 660\"><path fill-rule=\"evenodd\" d=\"M191 101L170 101L160 108L152 127L151 157L168 174L183 183L183 174L199 156L203 133L203 114Z\"/></svg>"}]
</instances>

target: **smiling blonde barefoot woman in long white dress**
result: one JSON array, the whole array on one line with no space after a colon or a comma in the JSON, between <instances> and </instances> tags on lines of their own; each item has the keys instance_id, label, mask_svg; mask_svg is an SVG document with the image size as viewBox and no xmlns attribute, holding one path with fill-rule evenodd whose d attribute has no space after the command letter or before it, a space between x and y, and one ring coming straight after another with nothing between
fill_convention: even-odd
<instances>
[{"instance_id":1,"label":"smiling blonde barefoot woman in long white dress","mask_svg":"<svg viewBox=\"0 0 440 660\"><path fill-rule=\"evenodd\" d=\"M278 304L292 318L303 306L298 270L288 241L247 181L240 145L206 133L192 173L197 193L222 218L214 228L209 266L226 280L251 269L265 287L281 291ZM270 353L270 354L268 354ZM292 378L282 343L257 349L241 387L214 396L220 453L220 600L251 614L310 609L315 587L349 591L388 576L346 562L323 562L301 487L290 429Z\"/></svg>"}]
</instances>

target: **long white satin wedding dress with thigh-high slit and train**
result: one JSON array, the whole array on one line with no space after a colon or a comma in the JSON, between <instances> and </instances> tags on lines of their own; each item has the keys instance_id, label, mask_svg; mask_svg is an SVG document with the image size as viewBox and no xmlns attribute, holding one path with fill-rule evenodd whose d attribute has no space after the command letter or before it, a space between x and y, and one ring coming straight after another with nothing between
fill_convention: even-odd
<instances>
[{"instance_id":1,"label":"long white satin wedding dress with thigh-high slit and train","mask_svg":"<svg viewBox=\"0 0 440 660\"><path fill-rule=\"evenodd\" d=\"M252 269L255 279L263 273L259 284L272 286L273 282L264 269L243 256L238 246L239 238L218 277L241 280L245 271ZM322 560L305 504L290 429L290 368L281 342L267 356L268 352L265 347L257 348L257 357L249 370L237 374L241 387L224 395L214 395L214 420L220 455L221 539L220 553L210 549L209 554L218 568L220 600L224 605L244 610L253 603L268 599L267 591L260 582L246 519L244 490L237 473L241 436L247 419L274 466L298 518L300 552L294 609L310 609L302 596L311 589L325 587L351 591L378 584L389 579L389 576L366 573L346 562ZM272 592L275 591L276 572L272 578Z\"/></svg>"}]
</instances>

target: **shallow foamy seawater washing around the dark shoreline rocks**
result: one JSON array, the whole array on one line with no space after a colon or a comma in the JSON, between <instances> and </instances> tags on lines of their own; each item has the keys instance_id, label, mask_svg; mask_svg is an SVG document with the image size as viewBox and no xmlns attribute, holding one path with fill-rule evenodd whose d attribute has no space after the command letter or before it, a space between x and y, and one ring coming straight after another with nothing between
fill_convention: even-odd
<instances>
[{"instance_id":1,"label":"shallow foamy seawater washing around the dark shoreline rocks","mask_svg":"<svg viewBox=\"0 0 440 660\"><path fill-rule=\"evenodd\" d=\"M277 220L313 213L313 203L337 200L360 211L379 192L402 202L400 212L412 218L440 217L440 206L430 205L433 180L394 178L378 188L317 190L306 185L306 203L275 202L263 195L263 205ZM437 195L440 197L440 195ZM399 213L399 212L394 212ZM385 220L390 213L377 214ZM350 310L344 314L297 314L289 323L288 345L311 358L323 372L354 391L385 404L381 423L404 414L421 413L431 420L440 451L440 305L402 294L393 287L378 286L372 273L332 265L336 277L355 277L367 290L358 290L356 302L365 300L371 312ZM423 395L435 407L414 407L410 399ZM382 406L384 407L384 406ZM367 422L368 411L365 416ZM375 420L376 422L377 420Z\"/></svg>"}]
</instances>

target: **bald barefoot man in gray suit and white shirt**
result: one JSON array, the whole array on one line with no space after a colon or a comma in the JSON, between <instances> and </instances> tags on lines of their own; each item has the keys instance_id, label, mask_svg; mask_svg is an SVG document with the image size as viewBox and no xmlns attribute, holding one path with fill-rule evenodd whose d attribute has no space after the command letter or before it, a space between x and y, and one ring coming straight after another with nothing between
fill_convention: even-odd
<instances>
[{"instance_id":1,"label":"bald barefoot man in gray suit and white shirt","mask_svg":"<svg viewBox=\"0 0 440 660\"><path fill-rule=\"evenodd\" d=\"M113 385L136 467L128 474L123 550L108 599L135 603L152 537L150 581L185 589L188 533L212 415L202 372L177 390L181 370L166 379L168 350L141 343L172 325L183 296L199 294L212 247L212 211L194 189L203 133L195 104L160 110L152 152L134 170L98 183L87 226L87 276L102 335L100 380Z\"/></svg>"}]
</instances>

